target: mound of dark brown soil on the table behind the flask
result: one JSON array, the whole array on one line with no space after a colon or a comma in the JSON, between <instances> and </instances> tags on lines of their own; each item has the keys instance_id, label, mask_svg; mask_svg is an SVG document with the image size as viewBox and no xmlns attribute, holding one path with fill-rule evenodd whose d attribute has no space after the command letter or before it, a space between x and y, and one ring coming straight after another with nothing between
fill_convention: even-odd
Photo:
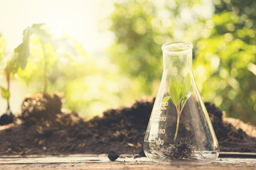
<instances>
[{"instance_id":1,"label":"mound of dark brown soil on the table behind the flask","mask_svg":"<svg viewBox=\"0 0 256 170\"><path fill-rule=\"evenodd\" d=\"M110 109L91 120L61 109L57 94L33 94L24 99L16 122L0 126L0 154L63 155L119 154L144 156L143 142L154 98L141 98L130 107ZM205 103L221 152L256 153L256 128Z\"/></svg>"}]
</instances>

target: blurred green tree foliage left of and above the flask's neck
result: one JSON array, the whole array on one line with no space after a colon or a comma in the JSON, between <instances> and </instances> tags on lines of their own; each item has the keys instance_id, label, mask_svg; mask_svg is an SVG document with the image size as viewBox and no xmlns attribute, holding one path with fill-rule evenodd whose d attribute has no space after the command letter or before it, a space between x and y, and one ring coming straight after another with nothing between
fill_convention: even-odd
<instances>
[{"instance_id":1,"label":"blurred green tree foliage left of and above the flask's neck","mask_svg":"<svg viewBox=\"0 0 256 170\"><path fill-rule=\"evenodd\" d=\"M116 41L109 52L120 74L138 82L134 84L134 97L156 93L162 74L161 45L180 40L181 36L189 41L201 37L200 29L205 27L206 18L196 11L200 5L198 0L132 0L114 4L110 30Z\"/></svg>"}]
</instances>

